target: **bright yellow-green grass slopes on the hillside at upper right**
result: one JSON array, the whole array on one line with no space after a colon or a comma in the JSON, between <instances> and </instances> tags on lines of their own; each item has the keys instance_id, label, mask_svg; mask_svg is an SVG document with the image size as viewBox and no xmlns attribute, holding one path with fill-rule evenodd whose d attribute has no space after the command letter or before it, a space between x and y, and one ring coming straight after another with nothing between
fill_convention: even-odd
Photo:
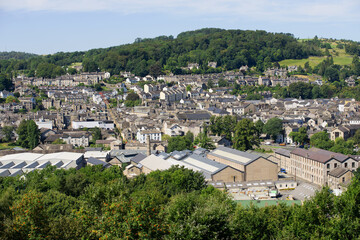
<instances>
[{"instance_id":1,"label":"bright yellow-green grass slopes on the hillside at upper right","mask_svg":"<svg viewBox=\"0 0 360 240\"><path fill-rule=\"evenodd\" d=\"M301 39L301 41L304 41L304 39ZM326 42L326 41L324 41L324 42ZM353 57L351 55L346 54L345 49L337 48L338 43L339 42L330 43L332 49L330 49L329 52L334 59L334 63L339 64L339 65L350 65ZM286 59L286 60L279 62L279 64L280 64L280 66L297 65L297 66L303 67L306 62L309 62L311 67L315 67L316 65L321 63L324 59L326 59L326 57L309 57L307 59Z\"/></svg>"}]
</instances>

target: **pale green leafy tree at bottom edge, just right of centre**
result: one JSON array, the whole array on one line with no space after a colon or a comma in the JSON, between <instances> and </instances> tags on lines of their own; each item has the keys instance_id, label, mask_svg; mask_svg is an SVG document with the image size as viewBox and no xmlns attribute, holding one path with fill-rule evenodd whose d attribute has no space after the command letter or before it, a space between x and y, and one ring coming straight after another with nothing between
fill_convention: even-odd
<instances>
[{"instance_id":1,"label":"pale green leafy tree at bottom edge, just right of centre","mask_svg":"<svg viewBox=\"0 0 360 240\"><path fill-rule=\"evenodd\" d=\"M212 189L173 198L165 210L166 220L171 223L166 239L231 238L228 216L235 205L225 193Z\"/></svg>"}]
</instances>

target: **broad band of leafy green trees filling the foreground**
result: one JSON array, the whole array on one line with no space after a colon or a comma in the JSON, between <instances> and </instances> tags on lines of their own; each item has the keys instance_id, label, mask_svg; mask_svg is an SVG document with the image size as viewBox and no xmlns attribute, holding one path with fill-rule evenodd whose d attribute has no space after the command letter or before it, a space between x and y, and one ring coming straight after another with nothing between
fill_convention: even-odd
<instances>
[{"instance_id":1,"label":"broad band of leafy green trees filling the foreground","mask_svg":"<svg viewBox=\"0 0 360 240\"><path fill-rule=\"evenodd\" d=\"M356 239L359 174L340 197L243 207L180 167L127 179L113 166L0 177L1 239Z\"/></svg>"}]
</instances>

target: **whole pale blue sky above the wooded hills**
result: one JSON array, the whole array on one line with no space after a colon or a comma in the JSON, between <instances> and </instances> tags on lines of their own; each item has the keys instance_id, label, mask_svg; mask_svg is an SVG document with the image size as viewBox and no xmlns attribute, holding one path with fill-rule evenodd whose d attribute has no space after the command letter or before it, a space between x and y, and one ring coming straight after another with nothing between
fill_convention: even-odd
<instances>
[{"instance_id":1,"label":"whole pale blue sky above the wooded hills","mask_svg":"<svg viewBox=\"0 0 360 240\"><path fill-rule=\"evenodd\" d=\"M360 0L0 0L0 51L84 51L207 27L360 41Z\"/></svg>"}]
</instances>

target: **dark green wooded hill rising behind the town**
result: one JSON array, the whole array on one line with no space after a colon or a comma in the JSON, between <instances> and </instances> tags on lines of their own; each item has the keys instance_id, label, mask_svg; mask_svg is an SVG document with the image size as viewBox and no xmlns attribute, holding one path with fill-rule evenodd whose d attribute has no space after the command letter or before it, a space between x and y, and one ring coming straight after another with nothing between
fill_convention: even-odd
<instances>
[{"instance_id":1,"label":"dark green wooded hill rising behind the town","mask_svg":"<svg viewBox=\"0 0 360 240\"><path fill-rule=\"evenodd\" d=\"M66 71L72 63L82 62L84 71L100 70L119 74L120 71L126 70L139 76L157 76L164 71L183 73L181 67L193 62L200 65L200 69L194 70L197 73L233 70L242 65L255 66L262 71L271 66L272 62L321 54L313 42L298 42L291 34L201 29L181 33L177 38L161 36L154 39L137 39L133 44L106 49L4 59L0 60L0 70L8 74L22 71L29 76L36 73L36 76L48 77L49 75L38 72L38 68L61 67L62 71ZM219 68L208 68L209 61L217 62ZM57 69L54 74L62 74L62 71Z\"/></svg>"}]
</instances>

